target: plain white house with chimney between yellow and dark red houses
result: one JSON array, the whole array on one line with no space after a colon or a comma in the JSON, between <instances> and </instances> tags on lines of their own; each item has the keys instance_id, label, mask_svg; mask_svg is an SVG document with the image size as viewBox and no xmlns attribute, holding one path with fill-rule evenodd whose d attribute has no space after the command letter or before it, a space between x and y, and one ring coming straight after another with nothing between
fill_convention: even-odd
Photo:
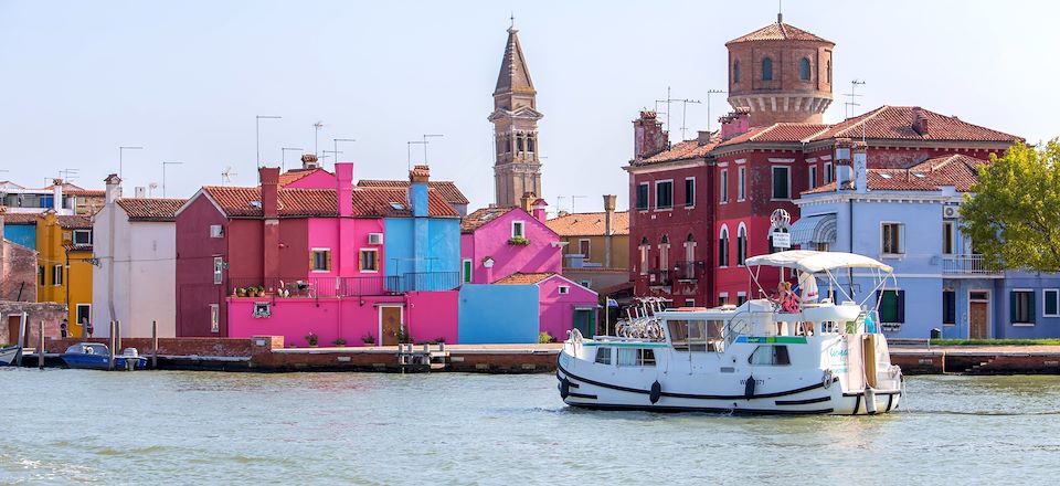
<instances>
[{"instance_id":1,"label":"plain white house with chimney between yellow and dark red houses","mask_svg":"<svg viewBox=\"0 0 1060 486\"><path fill-rule=\"evenodd\" d=\"M123 337L177 334L177 224L183 199L121 198L121 179L106 179L106 203L96 213L92 274L92 319L96 336L108 336L110 320Z\"/></svg>"}]
</instances>

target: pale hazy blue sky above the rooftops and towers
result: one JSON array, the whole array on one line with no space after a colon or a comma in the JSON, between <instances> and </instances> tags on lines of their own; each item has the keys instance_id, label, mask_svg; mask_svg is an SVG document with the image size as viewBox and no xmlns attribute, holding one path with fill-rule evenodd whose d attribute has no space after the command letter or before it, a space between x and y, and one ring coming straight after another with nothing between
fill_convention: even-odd
<instances>
[{"instance_id":1,"label":"pale hazy blue sky above the rooftops and towers","mask_svg":"<svg viewBox=\"0 0 1060 486\"><path fill-rule=\"evenodd\" d=\"M492 201L492 91L510 17L538 91L543 197L592 211L628 205L633 125L667 89L671 141L728 112L724 43L776 21L776 1L53 1L0 0L0 180L65 169L103 187L126 150L126 194L190 197L256 182L283 147L332 150L356 178L404 179L430 139L432 178L471 209ZM784 21L835 42L835 102L862 113L915 105L1025 137L1060 136L1060 3L794 1ZM666 110L665 107L660 108ZM256 116L280 116L259 120ZM665 118L665 115L664 115ZM324 126L314 127L317 122ZM316 136L316 137L315 137ZM317 141L319 140L319 141ZM424 160L413 146L412 162ZM286 167L301 151L286 152ZM326 162L331 166L331 159ZM573 203L573 208L572 208Z\"/></svg>"}]
</instances>

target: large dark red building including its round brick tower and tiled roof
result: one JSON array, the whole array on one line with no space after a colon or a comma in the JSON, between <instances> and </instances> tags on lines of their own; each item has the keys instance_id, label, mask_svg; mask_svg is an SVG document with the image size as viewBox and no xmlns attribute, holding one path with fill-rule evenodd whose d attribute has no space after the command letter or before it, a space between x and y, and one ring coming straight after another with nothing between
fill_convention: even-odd
<instances>
[{"instance_id":1,"label":"large dark red building including its round brick tower and tiled roof","mask_svg":"<svg viewBox=\"0 0 1060 486\"><path fill-rule=\"evenodd\" d=\"M757 297L743 262L774 250L771 214L783 209L795 221L799 193L852 179L854 140L865 141L870 168L895 169L955 154L988 159L1019 140L911 106L823 124L835 44L777 20L725 44L734 112L721 118L720 130L670 145L654 112L634 120L634 158L625 170L636 295L678 306ZM777 278L760 282L771 288Z\"/></svg>"}]
</instances>

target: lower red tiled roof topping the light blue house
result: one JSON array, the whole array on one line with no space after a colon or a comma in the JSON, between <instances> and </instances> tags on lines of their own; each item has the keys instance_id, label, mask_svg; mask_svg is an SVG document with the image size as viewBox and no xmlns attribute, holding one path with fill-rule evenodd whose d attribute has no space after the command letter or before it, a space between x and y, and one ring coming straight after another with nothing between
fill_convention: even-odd
<instances>
[{"instance_id":1,"label":"lower red tiled roof topping the light blue house","mask_svg":"<svg viewBox=\"0 0 1060 486\"><path fill-rule=\"evenodd\" d=\"M869 190L873 191L937 191L943 187L953 187L961 192L972 190L978 182L978 169L987 165L986 160L954 155L924 160L909 169L869 169ZM844 189L852 189L850 182ZM833 192L836 183L830 182L803 194Z\"/></svg>"}]
</instances>

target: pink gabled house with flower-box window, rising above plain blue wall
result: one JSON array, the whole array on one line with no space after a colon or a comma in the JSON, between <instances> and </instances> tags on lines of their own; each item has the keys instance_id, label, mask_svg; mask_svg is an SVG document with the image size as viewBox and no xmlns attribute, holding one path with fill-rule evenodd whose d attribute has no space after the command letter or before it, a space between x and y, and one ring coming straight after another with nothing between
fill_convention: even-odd
<instances>
[{"instance_id":1,"label":"pink gabled house with flower-box window, rising above plain blue wall","mask_svg":"<svg viewBox=\"0 0 1060 486\"><path fill-rule=\"evenodd\" d=\"M521 208L484 208L460 222L460 274L465 284L491 284L516 273L559 273L560 236L545 225L545 203Z\"/></svg>"}]
</instances>

